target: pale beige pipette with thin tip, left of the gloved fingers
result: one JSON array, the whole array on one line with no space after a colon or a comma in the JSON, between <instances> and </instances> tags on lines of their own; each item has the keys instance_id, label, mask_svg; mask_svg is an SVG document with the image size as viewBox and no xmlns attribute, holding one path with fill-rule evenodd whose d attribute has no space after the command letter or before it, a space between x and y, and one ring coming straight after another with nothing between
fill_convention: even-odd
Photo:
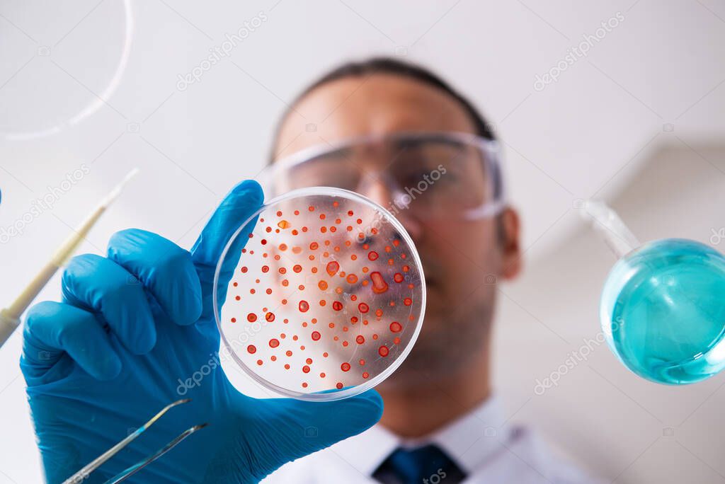
<instances>
[{"instance_id":1,"label":"pale beige pipette with thin tip, left of the gloved fingers","mask_svg":"<svg viewBox=\"0 0 725 484\"><path fill-rule=\"evenodd\" d=\"M133 178L136 173L138 173L138 168L131 170L128 175L121 180L121 183L116 185L116 187L113 188L113 190L110 191L103 200L101 200L101 203L96 206L96 209L94 209L94 211L86 217L86 220L84 220L78 229L67 238L62 246L60 246L56 253L51 257L49 262L47 262L40 272L38 272L36 277L30 281L28 286L20 293L20 296L17 296L10 306L0 311L0 347L5 344L5 341L7 341L10 335L12 335L15 328L20 325L20 316L23 312L25 312L25 309L28 309L28 306L30 306L33 302L33 299L36 299L38 293L40 293L43 287L45 287L59 267L62 267L63 264L67 262L67 259L70 259L70 256L72 256L75 249L78 248L80 242L86 238L86 235L88 235L88 232L91 231L91 228L93 228L101 215L106 211L106 209L108 209L110 204L117 199L123 190L124 185L128 183L128 181Z\"/></svg>"}]
</instances>

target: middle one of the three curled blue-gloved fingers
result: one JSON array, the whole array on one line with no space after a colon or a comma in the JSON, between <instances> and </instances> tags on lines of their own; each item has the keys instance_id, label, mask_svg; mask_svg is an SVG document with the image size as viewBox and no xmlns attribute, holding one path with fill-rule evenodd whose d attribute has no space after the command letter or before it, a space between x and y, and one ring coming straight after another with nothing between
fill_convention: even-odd
<instances>
[{"instance_id":1,"label":"middle one of the three curled blue-gloved fingers","mask_svg":"<svg viewBox=\"0 0 725 484\"><path fill-rule=\"evenodd\" d=\"M146 354L156 344L156 327L144 286L110 259L83 254L70 259L62 278L63 298L103 317L133 354Z\"/></svg>"}]
</instances>

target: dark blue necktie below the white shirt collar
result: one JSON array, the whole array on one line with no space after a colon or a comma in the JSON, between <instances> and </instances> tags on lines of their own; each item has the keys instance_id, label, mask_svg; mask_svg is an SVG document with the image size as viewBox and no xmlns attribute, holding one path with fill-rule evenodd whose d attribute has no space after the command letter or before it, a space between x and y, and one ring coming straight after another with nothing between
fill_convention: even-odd
<instances>
[{"instance_id":1,"label":"dark blue necktie below the white shirt collar","mask_svg":"<svg viewBox=\"0 0 725 484\"><path fill-rule=\"evenodd\" d=\"M440 448L428 445L397 448L373 478L384 484L457 484L465 474Z\"/></svg>"}]
</instances>

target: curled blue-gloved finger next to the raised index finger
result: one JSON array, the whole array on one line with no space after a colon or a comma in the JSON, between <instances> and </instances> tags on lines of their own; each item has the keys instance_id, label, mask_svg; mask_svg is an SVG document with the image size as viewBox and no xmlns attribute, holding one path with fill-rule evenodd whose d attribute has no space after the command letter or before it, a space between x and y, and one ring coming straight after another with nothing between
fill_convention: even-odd
<instances>
[{"instance_id":1,"label":"curled blue-gloved finger next to the raised index finger","mask_svg":"<svg viewBox=\"0 0 725 484\"><path fill-rule=\"evenodd\" d=\"M202 290L191 254L172 241L136 228L115 233L108 258L135 275L166 315L191 325L202 312Z\"/></svg>"}]
</instances>

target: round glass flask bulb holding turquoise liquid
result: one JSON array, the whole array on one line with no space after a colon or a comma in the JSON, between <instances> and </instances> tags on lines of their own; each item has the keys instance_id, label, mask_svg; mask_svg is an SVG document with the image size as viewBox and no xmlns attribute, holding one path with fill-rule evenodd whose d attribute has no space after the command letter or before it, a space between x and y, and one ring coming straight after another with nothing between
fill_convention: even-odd
<instances>
[{"instance_id":1,"label":"round glass flask bulb holding turquoise liquid","mask_svg":"<svg viewBox=\"0 0 725 484\"><path fill-rule=\"evenodd\" d=\"M626 367L657 383L695 383L725 368L725 257L703 243L645 243L612 268L602 330Z\"/></svg>"}]
</instances>

